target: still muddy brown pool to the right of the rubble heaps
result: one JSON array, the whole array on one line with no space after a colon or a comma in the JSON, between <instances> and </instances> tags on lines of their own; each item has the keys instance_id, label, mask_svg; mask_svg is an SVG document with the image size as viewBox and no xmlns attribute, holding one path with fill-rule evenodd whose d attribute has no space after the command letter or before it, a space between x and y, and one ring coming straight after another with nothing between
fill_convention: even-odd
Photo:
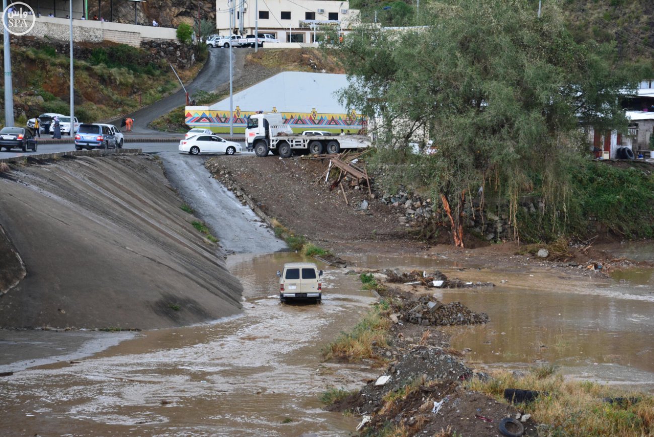
<instances>
[{"instance_id":1,"label":"still muddy brown pool to the right of the rubble heaps","mask_svg":"<svg viewBox=\"0 0 654 437\"><path fill-rule=\"evenodd\" d=\"M654 245L624 245L630 258L651 260ZM649 257L649 258L648 258ZM490 323L447 327L455 349L479 368L560 366L559 372L654 393L654 270L615 271L609 279L558 270L493 269L441 256L349 256L361 266L440 270L448 277L490 281L492 288L438 290L442 302L484 311ZM502 282L504 280L504 282Z\"/></svg>"}]
</instances>

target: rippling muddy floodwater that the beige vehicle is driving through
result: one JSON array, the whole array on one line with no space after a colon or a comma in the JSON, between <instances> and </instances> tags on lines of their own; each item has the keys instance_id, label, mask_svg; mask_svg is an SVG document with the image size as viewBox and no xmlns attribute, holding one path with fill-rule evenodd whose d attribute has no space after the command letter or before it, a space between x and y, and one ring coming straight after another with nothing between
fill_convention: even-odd
<instances>
[{"instance_id":1,"label":"rippling muddy floodwater that the beige vehicle is driving through","mask_svg":"<svg viewBox=\"0 0 654 437\"><path fill-rule=\"evenodd\" d=\"M215 324L144 332L94 357L0 379L0 434L347 436L358 418L322 410L328 385L354 389L365 366L322 363L320 349L373 302L325 266L322 304L279 303L275 271L293 253L228 257L245 312Z\"/></svg>"}]
</instances>

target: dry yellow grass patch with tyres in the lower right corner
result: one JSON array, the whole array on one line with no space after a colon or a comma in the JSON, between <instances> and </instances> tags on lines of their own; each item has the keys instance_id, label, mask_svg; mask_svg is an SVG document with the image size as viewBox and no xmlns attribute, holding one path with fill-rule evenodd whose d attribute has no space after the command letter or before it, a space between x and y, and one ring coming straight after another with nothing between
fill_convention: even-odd
<instances>
[{"instance_id":1,"label":"dry yellow grass patch with tyres in the lower right corner","mask_svg":"<svg viewBox=\"0 0 654 437\"><path fill-rule=\"evenodd\" d=\"M493 372L482 381L473 378L464 387L504 401L504 389L517 388L547 392L520 407L538 423L551 426L543 436L651 435L654 429L654 396L619 391L591 381L566 380L551 366L532 370L518 379L511 372ZM624 402L604 402L623 398ZM637 402L634 402L636 401Z\"/></svg>"}]
</instances>

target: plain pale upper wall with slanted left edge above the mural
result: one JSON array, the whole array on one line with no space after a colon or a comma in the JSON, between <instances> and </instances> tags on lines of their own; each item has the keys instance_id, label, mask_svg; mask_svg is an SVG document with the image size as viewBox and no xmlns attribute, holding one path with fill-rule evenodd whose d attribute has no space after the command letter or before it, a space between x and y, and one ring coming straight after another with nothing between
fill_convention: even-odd
<instances>
[{"instance_id":1,"label":"plain pale upper wall with slanted left edge above the mural","mask_svg":"<svg viewBox=\"0 0 654 437\"><path fill-rule=\"evenodd\" d=\"M245 73L247 74L247 72ZM233 109L243 111L277 111L322 114L345 114L347 109L338 103L336 91L347 87L346 75L301 73L286 71L250 86L233 96ZM209 106L212 111L230 110L230 97Z\"/></svg>"}]
</instances>

